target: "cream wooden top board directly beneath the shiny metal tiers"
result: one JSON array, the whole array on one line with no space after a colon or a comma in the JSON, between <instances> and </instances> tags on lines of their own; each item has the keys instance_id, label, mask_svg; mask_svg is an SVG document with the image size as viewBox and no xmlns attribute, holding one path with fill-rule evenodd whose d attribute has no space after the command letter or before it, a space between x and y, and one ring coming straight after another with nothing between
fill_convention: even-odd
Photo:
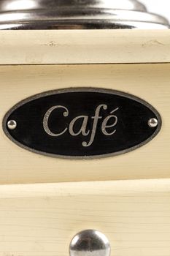
<instances>
[{"instance_id":1,"label":"cream wooden top board directly beneath the shiny metal tiers","mask_svg":"<svg viewBox=\"0 0 170 256\"><path fill-rule=\"evenodd\" d=\"M0 64L170 62L170 31L0 31Z\"/></svg>"}]
</instances>

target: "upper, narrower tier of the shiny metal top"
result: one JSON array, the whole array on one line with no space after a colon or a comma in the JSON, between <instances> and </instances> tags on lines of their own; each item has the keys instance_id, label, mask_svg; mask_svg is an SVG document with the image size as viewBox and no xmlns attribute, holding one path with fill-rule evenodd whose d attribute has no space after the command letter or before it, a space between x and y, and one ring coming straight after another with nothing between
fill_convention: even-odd
<instances>
[{"instance_id":1,"label":"upper, narrower tier of the shiny metal top","mask_svg":"<svg viewBox=\"0 0 170 256\"><path fill-rule=\"evenodd\" d=\"M53 10L77 7L93 9L139 10L147 12L144 4L136 0L1 0L0 12L19 10Z\"/></svg>"}]
</instances>

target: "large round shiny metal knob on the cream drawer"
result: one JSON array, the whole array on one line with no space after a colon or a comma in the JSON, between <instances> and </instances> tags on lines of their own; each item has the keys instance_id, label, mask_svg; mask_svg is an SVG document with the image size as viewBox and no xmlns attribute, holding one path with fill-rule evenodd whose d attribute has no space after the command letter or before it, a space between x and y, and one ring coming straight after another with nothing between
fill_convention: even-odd
<instances>
[{"instance_id":1,"label":"large round shiny metal knob on the cream drawer","mask_svg":"<svg viewBox=\"0 0 170 256\"><path fill-rule=\"evenodd\" d=\"M110 251L109 240L97 230L77 233L69 246L70 256L109 256Z\"/></svg>"}]
</instances>

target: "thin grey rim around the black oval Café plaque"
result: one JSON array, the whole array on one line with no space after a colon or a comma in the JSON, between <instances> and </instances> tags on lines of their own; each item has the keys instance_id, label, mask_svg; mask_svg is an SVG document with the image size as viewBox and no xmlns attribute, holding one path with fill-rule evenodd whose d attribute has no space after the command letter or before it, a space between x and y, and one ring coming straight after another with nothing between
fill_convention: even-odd
<instances>
[{"instance_id":1,"label":"thin grey rim around the black oval Caf\u00e9 plaque","mask_svg":"<svg viewBox=\"0 0 170 256\"><path fill-rule=\"evenodd\" d=\"M153 132L153 134L147 140L144 140L142 143L139 143L136 146L124 149L122 151L117 151L117 152L114 152L111 154L101 154L101 155L95 155L95 156L93 156L93 155L92 156L63 156L60 154L50 154L50 153L47 153L44 151L38 151L34 148L29 148L28 146L25 146L22 143L18 142L18 140L15 140L12 137L12 135L10 135L10 133L8 132L7 120L9 118L9 116L12 114L13 111L20 108L22 105L26 104L27 102L31 102L32 100L39 99L41 97L47 97L47 96L54 95L54 94L64 94L64 93L69 93L69 92L72 93L72 92L79 92L79 91L82 91L82 92L89 91L89 92L99 92L99 93L104 93L104 94L113 94L113 95L117 95L120 97L133 99L134 101L139 102L140 104L149 108L155 114L155 116L158 118L157 129L155 129L155 132ZM34 94L31 97L27 97L26 99L21 100L16 105L14 105L12 108L10 108L9 111L7 111L7 113L5 114L3 121L2 121L2 129L4 131L4 134L7 136L7 138L9 138L9 140L12 140L13 143L15 143L17 146L20 146L20 148L26 149L27 151L31 151L33 153L40 154L40 155L43 155L46 157L55 157L55 158L60 158L60 159L101 159L101 158L106 158L106 157L119 156L119 155L122 155L122 154L125 154L128 152L134 151L137 148L141 148L142 146L149 143L153 138L155 138L156 135L158 135L158 133L161 131L161 127L162 127L162 118L161 118L160 113L158 113L158 110L156 110L152 105L150 105L150 103L148 103L144 99L136 97L133 94L129 94L128 92L118 91L118 90L114 90L114 89L102 89L102 88L97 88L97 87L76 87L76 88L70 87L70 88L66 88L66 89L56 89L56 90L44 91L39 94Z\"/></svg>"}]
</instances>

